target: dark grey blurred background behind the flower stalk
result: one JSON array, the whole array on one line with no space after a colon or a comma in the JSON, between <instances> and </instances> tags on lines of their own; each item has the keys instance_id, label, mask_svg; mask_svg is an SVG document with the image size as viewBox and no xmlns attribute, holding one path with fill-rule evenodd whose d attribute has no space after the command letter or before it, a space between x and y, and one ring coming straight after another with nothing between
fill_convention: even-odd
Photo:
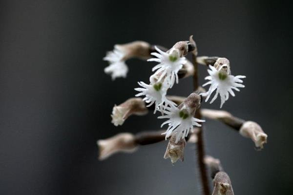
<instances>
[{"instance_id":1,"label":"dark grey blurred background behind the flower stalk","mask_svg":"<svg viewBox=\"0 0 293 195\"><path fill-rule=\"evenodd\" d=\"M135 94L153 63L127 61L112 82L102 58L115 43L142 39L172 46L194 35L200 55L230 59L246 88L224 104L269 135L250 139L207 121L206 151L221 159L236 195L290 194L293 180L292 3L269 0L0 1L1 195L195 195L195 147L172 166L167 142L98 161L96 140L156 130L149 114L110 123L112 106ZM207 75L201 67L201 82ZM170 94L187 96L191 78ZM219 108L219 101L202 107Z\"/></svg>"}]
</instances>

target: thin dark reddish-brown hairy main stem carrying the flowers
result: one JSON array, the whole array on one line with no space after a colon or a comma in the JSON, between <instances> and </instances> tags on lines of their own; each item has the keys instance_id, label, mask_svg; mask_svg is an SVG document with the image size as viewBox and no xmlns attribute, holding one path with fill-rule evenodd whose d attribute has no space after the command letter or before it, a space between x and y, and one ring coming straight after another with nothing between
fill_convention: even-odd
<instances>
[{"instance_id":1,"label":"thin dark reddish-brown hairy main stem carrying the flowers","mask_svg":"<svg viewBox=\"0 0 293 195\"><path fill-rule=\"evenodd\" d=\"M192 37L190 37L192 39ZM196 47L196 46L195 46ZM198 89L198 63L196 61L197 51L192 52L192 63L194 66L194 74L193 74L193 91ZM198 108L195 112L195 116L198 119L201 119L200 108ZM203 187L204 195L209 195L209 180L207 175L206 165L204 163L205 150L204 150L204 138L203 138L203 128L200 127L200 131L197 134L198 140L195 143L197 145L197 160L198 167L200 170L201 182Z\"/></svg>"}]
</instances>

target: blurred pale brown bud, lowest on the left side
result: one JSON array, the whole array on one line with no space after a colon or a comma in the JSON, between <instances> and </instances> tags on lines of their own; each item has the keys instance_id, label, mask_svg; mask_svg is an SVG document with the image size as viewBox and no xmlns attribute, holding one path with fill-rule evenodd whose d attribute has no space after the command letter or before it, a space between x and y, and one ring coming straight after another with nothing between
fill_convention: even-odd
<instances>
[{"instance_id":1,"label":"blurred pale brown bud, lowest on the left side","mask_svg":"<svg viewBox=\"0 0 293 195\"><path fill-rule=\"evenodd\" d=\"M117 152L131 153L137 149L135 137L130 133L121 133L114 137L100 139L97 141L97 145L99 160L104 160Z\"/></svg>"}]
</instances>

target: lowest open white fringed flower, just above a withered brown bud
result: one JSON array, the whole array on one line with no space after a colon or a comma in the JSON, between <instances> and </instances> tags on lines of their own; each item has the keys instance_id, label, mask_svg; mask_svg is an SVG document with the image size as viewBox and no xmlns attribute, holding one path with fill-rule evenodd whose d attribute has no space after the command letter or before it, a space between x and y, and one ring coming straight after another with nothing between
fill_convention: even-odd
<instances>
[{"instance_id":1,"label":"lowest open white fringed flower, just above a withered brown bud","mask_svg":"<svg viewBox=\"0 0 293 195\"><path fill-rule=\"evenodd\" d=\"M166 139L171 135L176 136L177 143L180 139L185 138L188 135L190 129L193 126L201 127L201 124L198 122L205 122L205 120L201 120L192 116L189 109L186 106L183 106L181 109L170 106L166 108L164 111L164 116L160 116L158 118L169 118L167 121L163 122L161 127L165 124L168 124L167 131L164 133L166 134Z\"/></svg>"}]
</instances>

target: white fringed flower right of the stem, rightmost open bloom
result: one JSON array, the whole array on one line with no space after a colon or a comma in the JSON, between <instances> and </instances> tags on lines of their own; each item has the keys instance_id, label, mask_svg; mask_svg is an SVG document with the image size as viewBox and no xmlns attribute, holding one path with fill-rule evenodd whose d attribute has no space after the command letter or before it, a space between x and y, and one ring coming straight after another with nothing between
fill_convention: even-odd
<instances>
[{"instance_id":1,"label":"white fringed flower right of the stem, rightmost open bloom","mask_svg":"<svg viewBox=\"0 0 293 195\"><path fill-rule=\"evenodd\" d=\"M219 67L219 70L217 70L215 67L209 65L210 70L208 69L209 76L205 79L209 80L207 83L205 83L203 86L209 85L209 91L206 93L202 93L200 95L207 96L206 102L209 100L210 95L216 90L216 94L211 99L210 103L212 103L220 94L221 98L221 106L222 108L225 101L229 98L229 93L231 96L235 96L232 89L235 91L240 91L237 87L245 87L242 83L243 81L240 78L246 78L245 76L232 76L230 75L230 68L227 64L223 64ZM227 70L222 70L223 68L226 68Z\"/></svg>"}]
</instances>

